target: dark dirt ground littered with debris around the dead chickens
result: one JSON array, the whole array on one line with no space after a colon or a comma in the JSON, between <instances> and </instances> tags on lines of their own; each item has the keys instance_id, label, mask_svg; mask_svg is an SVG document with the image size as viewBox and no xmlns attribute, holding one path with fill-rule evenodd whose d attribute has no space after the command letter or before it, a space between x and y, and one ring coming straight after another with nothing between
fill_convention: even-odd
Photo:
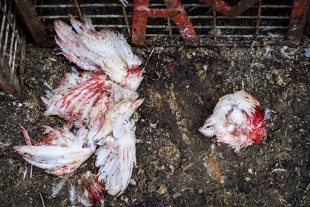
<instances>
[{"instance_id":1,"label":"dark dirt ground littered with debris around the dead chickens","mask_svg":"<svg viewBox=\"0 0 310 207\"><path fill-rule=\"evenodd\" d=\"M105 193L105 206L310 206L310 63L304 48L287 59L282 47L154 48L138 88L143 104L134 113L136 186L120 197ZM134 48L143 65L153 48ZM296 48L289 48L289 51ZM61 179L30 165L12 149L24 145L18 121L30 137L45 117L44 82L56 86L73 64L59 49L28 43L23 100L0 101L0 206L70 206L70 188L50 197ZM244 89L272 110L267 137L236 153L198 128L220 97ZM215 147L212 148L212 144ZM76 172L96 172L94 157ZM28 172L24 175L25 169ZM95 204L94 206L99 206Z\"/></svg>"}]
</instances>

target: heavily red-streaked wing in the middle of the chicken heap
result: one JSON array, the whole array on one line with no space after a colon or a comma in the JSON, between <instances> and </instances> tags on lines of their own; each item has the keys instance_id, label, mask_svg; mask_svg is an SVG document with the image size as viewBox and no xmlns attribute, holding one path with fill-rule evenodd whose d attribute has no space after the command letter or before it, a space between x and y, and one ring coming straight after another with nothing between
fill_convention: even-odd
<instances>
[{"instance_id":1,"label":"heavily red-streaked wing in the middle of the chicken heap","mask_svg":"<svg viewBox=\"0 0 310 207\"><path fill-rule=\"evenodd\" d=\"M59 86L47 90L47 98L42 98L47 107L45 115L58 115L67 121L87 119L87 112L110 85L107 82L105 75L94 77L90 72L68 72Z\"/></svg>"}]
</instances>

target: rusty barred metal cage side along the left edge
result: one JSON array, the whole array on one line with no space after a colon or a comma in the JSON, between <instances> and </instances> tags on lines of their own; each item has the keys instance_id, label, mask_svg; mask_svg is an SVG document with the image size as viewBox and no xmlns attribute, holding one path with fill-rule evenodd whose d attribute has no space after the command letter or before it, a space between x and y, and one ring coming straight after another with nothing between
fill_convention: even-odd
<instances>
[{"instance_id":1,"label":"rusty barred metal cage side along the left edge","mask_svg":"<svg viewBox=\"0 0 310 207\"><path fill-rule=\"evenodd\" d=\"M19 99L21 83L17 73L23 73L25 43L19 36L14 1L1 1L0 10L0 97Z\"/></svg>"}]
</instances>

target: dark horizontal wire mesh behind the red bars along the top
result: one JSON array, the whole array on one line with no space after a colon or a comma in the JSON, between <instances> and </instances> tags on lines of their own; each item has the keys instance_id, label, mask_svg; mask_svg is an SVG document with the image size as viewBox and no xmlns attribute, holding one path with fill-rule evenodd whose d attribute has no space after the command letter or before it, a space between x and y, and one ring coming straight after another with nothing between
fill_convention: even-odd
<instances>
[{"instance_id":1,"label":"dark horizontal wire mesh behind the red bars along the top","mask_svg":"<svg viewBox=\"0 0 310 207\"><path fill-rule=\"evenodd\" d=\"M50 37L55 35L53 21L61 19L69 23L68 14L89 17L96 28L118 30L130 37L134 4L130 2L125 7L118 0L96 2L98 1L34 1L34 7ZM293 0L260 0L237 17L227 17L202 1L184 0L182 3L199 39L195 46L278 45L287 41L288 31L291 29L289 23ZM238 1L227 3L234 6ZM166 5L163 0L149 0L148 8L165 9ZM178 46L184 45L183 42L172 17L147 17L146 44Z\"/></svg>"}]
</instances>

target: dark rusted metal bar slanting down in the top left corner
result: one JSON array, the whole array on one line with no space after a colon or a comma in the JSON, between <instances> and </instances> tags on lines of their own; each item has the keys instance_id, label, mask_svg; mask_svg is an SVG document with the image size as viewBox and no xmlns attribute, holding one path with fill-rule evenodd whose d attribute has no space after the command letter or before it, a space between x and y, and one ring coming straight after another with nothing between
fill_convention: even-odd
<instances>
[{"instance_id":1,"label":"dark rusted metal bar slanting down in the top left corner","mask_svg":"<svg viewBox=\"0 0 310 207\"><path fill-rule=\"evenodd\" d=\"M23 17L34 41L43 47L53 46L55 42L48 37L43 23L40 21L34 5L30 0L15 0L17 8Z\"/></svg>"}]
</instances>

